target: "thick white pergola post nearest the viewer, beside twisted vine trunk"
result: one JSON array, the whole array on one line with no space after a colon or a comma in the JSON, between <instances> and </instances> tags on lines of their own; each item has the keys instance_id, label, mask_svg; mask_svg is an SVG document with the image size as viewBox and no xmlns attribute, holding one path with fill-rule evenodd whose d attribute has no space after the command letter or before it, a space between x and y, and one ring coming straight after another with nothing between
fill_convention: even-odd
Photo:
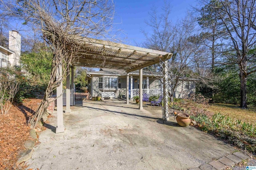
<instances>
[{"instance_id":1,"label":"thick white pergola post nearest the viewer, beside twisted vine trunk","mask_svg":"<svg viewBox=\"0 0 256 170\"><path fill-rule=\"evenodd\" d=\"M57 127L56 133L64 132L65 128L63 125L63 97L62 97L62 65L57 66L56 80L60 82L60 85L57 87Z\"/></svg>"}]
</instances>

